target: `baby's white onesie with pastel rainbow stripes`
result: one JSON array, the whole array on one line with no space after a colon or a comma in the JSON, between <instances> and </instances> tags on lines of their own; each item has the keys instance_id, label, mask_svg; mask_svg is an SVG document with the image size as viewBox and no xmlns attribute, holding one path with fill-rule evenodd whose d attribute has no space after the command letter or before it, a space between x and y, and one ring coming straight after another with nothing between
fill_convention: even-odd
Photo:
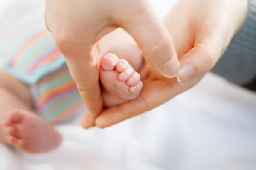
<instances>
[{"instance_id":1,"label":"baby's white onesie with pastel rainbow stripes","mask_svg":"<svg viewBox=\"0 0 256 170\"><path fill-rule=\"evenodd\" d=\"M71 119L85 106L44 24L44 0L25 2L15 3L1 20L2 69L30 86L35 111L45 120Z\"/></svg>"}]
</instances>

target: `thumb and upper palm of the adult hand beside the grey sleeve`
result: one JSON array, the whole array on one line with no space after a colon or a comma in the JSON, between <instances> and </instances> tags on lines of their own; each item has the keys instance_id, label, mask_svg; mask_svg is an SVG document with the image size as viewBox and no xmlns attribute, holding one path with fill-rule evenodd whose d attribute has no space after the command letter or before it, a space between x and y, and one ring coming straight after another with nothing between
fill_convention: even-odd
<instances>
[{"instance_id":1,"label":"thumb and upper palm of the adult hand beside the grey sleeve","mask_svg":"<svg viewBox=\"0 0 256 170\"><path fill-rule=\"evenodd\" d=\"M248 0L183 0L175 6L166 26L172 28L181 84L212 69L241 28L247 7Z\"/></svg>"}]
</instances>

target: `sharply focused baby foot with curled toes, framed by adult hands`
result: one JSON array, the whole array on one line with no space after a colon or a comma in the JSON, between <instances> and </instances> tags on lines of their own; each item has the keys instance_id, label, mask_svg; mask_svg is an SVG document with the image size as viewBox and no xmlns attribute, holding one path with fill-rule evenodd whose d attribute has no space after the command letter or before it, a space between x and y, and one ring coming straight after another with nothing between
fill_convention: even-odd
<instances>
[{"instance_id":1,"label":"sharply focused baby foot with curled toes, framed by adult hands","mask_svg":"<svg viewBox=\"0 0 256 170\"><path fill-rule=\"evenodd\" d=\"M105 107L136 98L143 86L140 74L126 60L118 59L114 54L107 54L101 59L99 78Z\"/></svg>"}]
</instances>

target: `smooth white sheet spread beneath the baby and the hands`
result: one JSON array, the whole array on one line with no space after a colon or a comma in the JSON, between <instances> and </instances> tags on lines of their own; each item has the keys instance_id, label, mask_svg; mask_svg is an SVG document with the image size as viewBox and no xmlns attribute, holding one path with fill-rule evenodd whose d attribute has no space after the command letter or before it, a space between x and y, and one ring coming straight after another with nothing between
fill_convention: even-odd
<instances>
[{"instance_id":1,"label":"smooth white sheet spread beneath the baby and the hands","mask_svg":"<svg viewBox=\"0 0 256 170\"><path fill-rule=\"evenodd\" d=\"M163 1L153 2L160 17L169 8ZM255 170L255 113L256 94L208 74L168 103L107 129L59 126L64 143L52 153L0 144L0 170Z\"/></svg>"}]
</instances>

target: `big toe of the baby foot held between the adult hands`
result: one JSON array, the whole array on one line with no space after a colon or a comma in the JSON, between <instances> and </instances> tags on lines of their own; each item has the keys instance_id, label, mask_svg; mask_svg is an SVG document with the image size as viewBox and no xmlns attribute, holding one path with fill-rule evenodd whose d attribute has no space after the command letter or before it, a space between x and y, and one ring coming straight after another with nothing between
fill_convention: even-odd
<instances>
[{"instance_id":1,"label":"big toe of the baby foot held between the adult hands","mask_svg":"<svg viewBox=\"0 0 256 170\"><path fill-rule=\"evenodd\" d=\"M115 54L106 54L100 61L101 68L105 71L112 71L118 62Z\"/></svg>"}]
</instances>

